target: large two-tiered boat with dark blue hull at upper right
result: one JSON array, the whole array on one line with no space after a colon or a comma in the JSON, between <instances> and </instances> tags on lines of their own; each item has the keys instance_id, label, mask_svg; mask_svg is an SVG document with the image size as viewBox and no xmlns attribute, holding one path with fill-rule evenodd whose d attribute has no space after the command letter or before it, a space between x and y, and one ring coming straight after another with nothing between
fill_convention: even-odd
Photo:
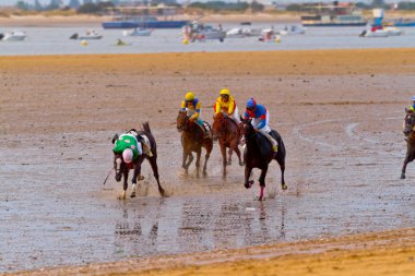
<instances>
[{"instance_id":1,"label":"large two-tiered boat with dark blue hull at upper right","mask_svg":"<svg viewBox=\"0 0 415 276\"><path fill-rule=\"evenodd\" d=\"M355 10L351 3L339 3L333 5L310 5L310 13L300 17L303 26L306 27L339 27L339 26L365 26L367 20L361 11Z\"/></svg>"}]
</instances>

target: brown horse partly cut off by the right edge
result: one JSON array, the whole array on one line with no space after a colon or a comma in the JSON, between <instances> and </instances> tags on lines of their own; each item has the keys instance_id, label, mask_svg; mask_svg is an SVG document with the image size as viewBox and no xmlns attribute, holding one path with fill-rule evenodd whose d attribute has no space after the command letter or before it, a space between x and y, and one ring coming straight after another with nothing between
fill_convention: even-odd
<instances>
[{"instance_id":1,"label":"brown horse partly cut off by the right edge","mask_svg":"<svg viewBox=\"0 0 415 276\"><path fill-rule=\"evenodd\" d=\"M403 127L403 134L406 139L406 156L403 160L401 179L405 179L406 166L415 159L415 112L405 108L406 116Z\"/></svg>"}]
</instances>

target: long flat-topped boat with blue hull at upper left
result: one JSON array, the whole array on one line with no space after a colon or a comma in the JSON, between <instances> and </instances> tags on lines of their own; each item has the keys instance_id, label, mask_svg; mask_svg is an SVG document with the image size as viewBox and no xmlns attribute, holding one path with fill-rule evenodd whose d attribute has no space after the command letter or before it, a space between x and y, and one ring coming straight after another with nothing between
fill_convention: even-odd
<instances>
[{"instance_id":1,"label":"long flat-topped boat with blue hull at upper left","mask_svg":"<svg viewBox=\"0 0 415 276\"><path fill-rule=\"evenodd\" d=\"M114 7L108 8L107 13L112 20L104 22L104 28L181 28L189 24L187 20L174 20L176 7L164 4Z\"/></svg>"}]
</instances>

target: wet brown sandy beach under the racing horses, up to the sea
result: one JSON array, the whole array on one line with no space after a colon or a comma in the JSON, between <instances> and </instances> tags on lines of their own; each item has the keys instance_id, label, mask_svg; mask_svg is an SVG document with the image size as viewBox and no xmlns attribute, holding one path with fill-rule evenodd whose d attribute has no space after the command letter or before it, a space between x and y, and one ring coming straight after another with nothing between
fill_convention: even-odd
<instances>
[{"instance_id":1,"label":"wet brown sandy beach under the racing horses, up to the sea","mask_svg":"<svg viewBox=\"0 0 415 276\"><path fill-rule=\"evenodd\" d=\"M379 265L384 255L407 260L402 267L406 272L410 264L413 273L413 230L400 230L415 225L412 165L406 180L399 176L403 108L413 94L414 72L414 49L1 57L0 268L131 260L116 271L93 264L60 272L112 273L130 265L140 271L146 267L141 260L154 264L147 268L157 267L157 260L163 266L169 256L161 255L174 255L178 266L187 262L177 254L189 253L216 263L200 253L213 250L218 259L252 253L266 266L250 262L244 271L259 265L261 274L273 272L275 262L278 274L300 273L295 269L308 269L308 262L311 272L325 267L321 274L328 275L343 267L398 274L391 263ZM244 168L235 158L226 181L221 179L217 145L208 178L197 179L194 167L183 176L179 166L174 123L181 97L195 92L211 121L225 86L241 107L250 96L264 103L287 147L288 190L281 191L274 164L262 203L245 190ZM141 196L119 202L120 183L111 177L102 185L111 167L110 139L143 121L157 139L162 182L170 197L159 197L144 165ZM365 235L387 230L392 231ZM329 244L344 239L344 247L331 251L321 239ZM262 248L242 249L270 243L275 244L272 256L263 256ZM305 244L306 255L298 252ZM313 254L320 250L325 253ZM359 265L353 263L356 256ZM235 265L241 266L177 274L228 273Z\"/></svg>"}]
</instances>

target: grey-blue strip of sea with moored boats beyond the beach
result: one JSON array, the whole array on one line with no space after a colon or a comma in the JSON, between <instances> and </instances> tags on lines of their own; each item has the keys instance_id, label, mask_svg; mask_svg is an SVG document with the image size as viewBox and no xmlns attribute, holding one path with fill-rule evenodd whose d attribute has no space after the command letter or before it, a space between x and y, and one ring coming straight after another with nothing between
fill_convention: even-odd
<instances>
[{"instance_id":1,"label":"grey-blue strip of sea with moored boats beyond the beach","mask_svg":"<svg viewBox=\"0 0 415 276\"><path fill-rule=\"evenodd\" d=\"M211 24L215 26L215 24ZM251 28L273 27L275 31L293 24L260 23ZM238 26L223 24L224 29ZM99 40L69 39L74 33L85 34L95 29L103 35ZM149 37L124 37L122 29L103 29L99 24L66 27L1 27L0 33L23 31L23 41L0 40L0 56L38 55L107 55L107 53L153 53L153 52L221 52L221 51L274 51L316 49L364 49L364 48L414 48L415 27L402 27L401 36L359 37L365 27L308 27L304 35L282 35L280 43L259 41L258 37L225 38L224 41L206 40L183 44L181 29L154 29ZM121 39L124 46L117 46Z\"/></svg>"}]
</instances>

